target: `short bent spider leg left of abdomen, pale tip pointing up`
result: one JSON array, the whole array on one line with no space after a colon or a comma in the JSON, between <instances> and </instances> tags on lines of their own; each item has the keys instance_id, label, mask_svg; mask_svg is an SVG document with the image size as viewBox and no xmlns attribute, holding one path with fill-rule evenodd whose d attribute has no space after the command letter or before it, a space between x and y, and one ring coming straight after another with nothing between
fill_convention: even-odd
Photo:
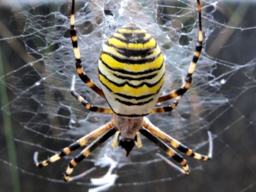
<instances>
[{"instance_id":1,"label":"short bent spider leg left of abdomen, pale tip pointing up","mask_svg":"<svg viewBox=\"0 0 256 192\"><path fill-rule=\"evenodd\" d=\"M74 89L75 89L75 83L76 83L76 77L73 76L72 78L72 85L70 88L70 92L71 95L73 97L75 97L79 102L81 102L81 104L83 104L83 106L88 109L89 111L93 111L93 112L98 112L98 113L109 113L109 114L113 114L112 109L109 108L100 108L97 106L92 106L91 104L89 104L87 102L87 100L85 100L81 95L79 95Z\"/></svg>"}]
</instances>

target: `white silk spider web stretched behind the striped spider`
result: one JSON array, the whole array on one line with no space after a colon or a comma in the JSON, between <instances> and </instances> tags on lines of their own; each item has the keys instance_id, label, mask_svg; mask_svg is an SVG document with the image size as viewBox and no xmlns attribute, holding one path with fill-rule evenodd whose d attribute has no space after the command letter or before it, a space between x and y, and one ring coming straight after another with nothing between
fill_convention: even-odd
<instances>
[{"instance_id":1,"label":"white silk spider web stretched behind the striped spider","mask_svg":"<svg viewBox=\"0 0 256 192\"><path fill-rule=\"evenodd\" d=\"M68 31L70 2L8 3L0 6L1 190L255 191L253 1L202 2L204 49L191 89L172 113L148 116L202 154L207 154L207 131L211 131L211 162L184 156L191 167L186 177L164 163L157 156L163 152L143 137L143 148L134 148L129 157L121 148L113 150L109 139L77 165L74 175L88 172L70 184L62 181L63 172L77 152L42 170L34 164L35 152L38 159L45 159L111 116L89 113L70 95L76 74ZM179 88L195 50L196 10L193 0L76 1L77 37L86 72L99 83L102 42L133 21L147 29L163 51L167 76L163 92ZM79 78L76 91L92 104L107 106Z\"/></svg>"}]
</instances>

